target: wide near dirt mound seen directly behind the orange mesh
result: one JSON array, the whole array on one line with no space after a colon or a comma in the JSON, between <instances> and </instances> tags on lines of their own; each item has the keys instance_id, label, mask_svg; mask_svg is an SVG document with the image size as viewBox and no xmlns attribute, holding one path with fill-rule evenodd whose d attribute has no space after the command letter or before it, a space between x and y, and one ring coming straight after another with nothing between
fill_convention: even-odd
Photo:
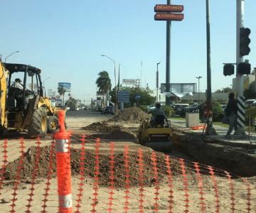
<instances>
[{"instance_id":1,"label":"wide near dirt mound seen directly behind the orange mesh","mask_svg":"<svg viewBox=\"0 0 256 213\"><path fill-rule=\"evenodd\" d=\"M36 174L36 178L46 178L48 170L50 168L49 159L53 158L53 177L56 176L56 160L55 154L50 157L50 146L40 148L39 169ZM55 153L55 148L53 153ZM72 175L79 175L80 173L80 149L70 148L71 153L71 170ZM22 166L18 165L19 159L9 163L6 166L6 172L4 173L5 180L15 180L17 169L21 179L29 179L32 177L33 170L36 164L36 147L32 146L23 155ZM129 153L129 175L130 185L139 185L139 164L137 153ZM158 177L159 181L164 180L166 177L165 168L165 156L163 153L156 153ZM100 174L99 184L101 186L107 186L110 183L110 155L106 153L100 153ZM143 153L143 169L144 169L144 185L152 185L156 181L154 179L154 170L152 169L151 152L144 151ZM173 174L179 174L178 160L171 159L171 170ZM95 177L95 153L85 150L85 176L89 178ZM114 185L115 187L125 187L125 158L124 153L114 153Z\"/></svg>"}]
</instances>

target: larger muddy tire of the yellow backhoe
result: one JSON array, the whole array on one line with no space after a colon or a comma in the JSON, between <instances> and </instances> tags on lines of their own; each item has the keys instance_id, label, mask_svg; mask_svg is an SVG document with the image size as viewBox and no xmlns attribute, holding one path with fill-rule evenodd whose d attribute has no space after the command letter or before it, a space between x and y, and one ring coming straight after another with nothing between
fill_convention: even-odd
<instances>
[{"instance_id":1,"label":"larger muddy tire of the yellow backhoe","mask_svg":"<svg viewBox=\"0 0 256 213\"><path fill-rule=\"evenodd\" d=\"M47 133L47 114L43 107L33 112L31 123L28 125L28 137L36 138L37 136L44 138Z\"/></svg>"}]
</instances>

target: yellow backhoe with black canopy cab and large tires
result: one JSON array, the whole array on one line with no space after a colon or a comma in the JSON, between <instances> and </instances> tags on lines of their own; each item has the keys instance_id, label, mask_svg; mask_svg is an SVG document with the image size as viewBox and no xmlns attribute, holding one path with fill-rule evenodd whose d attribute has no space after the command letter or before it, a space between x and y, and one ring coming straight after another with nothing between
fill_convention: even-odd
<instances>
[{"instance_id":1,"label":"yellow backhoe with black canopy cab and large tires","mask_svg":"<svg viewBox=\"0 0 256 213\"><path fill-rule=\"evenodd\" d=\"M31 65L0 60L0 135L4 131L27 131L29 138L45 137L58 128L57 107L43 97L41 70ZM23 89L14 87L17 77Z\"/></svg>"}]
</instances>

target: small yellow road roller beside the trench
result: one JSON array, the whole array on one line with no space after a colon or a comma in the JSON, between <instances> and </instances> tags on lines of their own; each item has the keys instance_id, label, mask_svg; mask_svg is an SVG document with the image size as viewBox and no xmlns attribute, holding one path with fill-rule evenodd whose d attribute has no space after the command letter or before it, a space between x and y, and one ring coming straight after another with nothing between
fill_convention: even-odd
<instances>
[{"instance_id":1,"label":"small yellow road roller beside the trench","mask_svg":"<svg viewBox=\"0 0 256 213\"><path fill-rule=\"evenodd\" d=\"M149 146L156 151L170 152L171 121L165 121L164 115L156 115L154 124L147 119L139 126L138 141L143 146Z\"/></svg>"}]
</instances>

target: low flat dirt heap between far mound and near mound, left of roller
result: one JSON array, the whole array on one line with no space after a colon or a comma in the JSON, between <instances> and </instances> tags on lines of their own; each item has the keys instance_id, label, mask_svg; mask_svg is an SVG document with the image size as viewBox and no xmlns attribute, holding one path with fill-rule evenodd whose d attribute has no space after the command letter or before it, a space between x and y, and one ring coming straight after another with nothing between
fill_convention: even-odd
<instances>
[{"instance_id":1,"label":"low flat dirt heap between far mound and near mound, left of roller","mask_svg":"<svg viewBox=\"0 0 256 213\"><path fill-rule=\"evenodd\" d=\"M130 131L128 128L117 125L108 124L107 121L95 122L88 126L82 127L83 130L98 131L101 133L92 134L91 136L102 139L135 139L136 133Z\"/></svg>"}]
</instances>

